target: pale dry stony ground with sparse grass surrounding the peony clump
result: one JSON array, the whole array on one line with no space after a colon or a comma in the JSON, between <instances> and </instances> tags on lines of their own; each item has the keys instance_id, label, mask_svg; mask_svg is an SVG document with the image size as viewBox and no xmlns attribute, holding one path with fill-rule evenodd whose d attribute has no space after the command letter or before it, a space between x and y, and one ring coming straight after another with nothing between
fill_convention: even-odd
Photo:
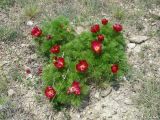
<instances>
[{"instance_id":1,"label":"pale dry stony ground with sparse grass surrounding the peony clump","mask_svg":"<svg viewBox=\"0 0 160 120\"><path fill-rule=\"evenodd\" d=\"M105 2L104 2L105 3ZM114 3L114 4L113 4ZM41 91L41 83L36 82L39 77L36 71L42 65L44 59L36 54L30 30L32 26L27 25L29 18L23 18L22 10L19 4L15 4L5 10L0 11L0 23L7 26L19 26L20 37L16 37L14 41L0 41L0 72L1 79L7 81L6 91L1 92L1 96L6 97L4 104L0 104L0 119L7 120L141 120L145 119L143 111L137 107L134 102L139 91L143 88L143 81L154 79L160 80L160 9L159 6L147 8L141 7L137 2L114 1L105 3L115 6L119 4L123 10L121 13L112 9L100 10L102 16L108 17L110 20L121 22L124 25L124 34L127 43L128 62L132 66L130 73L125 76L124 82L119 88L108 87L100 90L91 87L89 101L83 108L64 109L62 112L55 112L52 106L43 96ZM45 4L45 5L44 5ZM56 16L51 13L55 4L64 6L66 3L61 0L50 4L41 1L38 6L46 8L41 11L39 17L34 18L34 24L39 24L45 14L48 16ZM69 2L67 3L69 4ZM79 9L83 7L77 1ZM52 6L53 5L53 6ZM57 7L56 9L60 9ZM96 6L93 6L93 8ZM111 7L111 6L110 6ZM52 9L51 9L52 8ZM115 6L115 8L117 8ZM74 7L72 7L74 11ZM62 9L63 10L63 9ZM67 8L68 10L68 8ZM76 9L77 10L77 9ZM47 12L48 11L48 12ZM60 10L59 10L60 11ZM69 11L70 12L70 11ZM60 12L59 14L62 14ZM66 13L64 13L66 14ZM73 13L74 15L75 13ZM73 16L68 15L68 17ZM89 16L89 15L87 15ZM21 18L22 17L22 18ZM93 14L92 19L99 16ZM117 18L118 17L118 18ZM120 18L119 18L120 17ZM33 19L33 18L32 18ZM18 22L17 22L18 21ZM94 21L93 21L94 22ZM86 20L76 25L77 32L89 29L85 26ZM89 25L90 23L88 23ZM15 27L14 27L15 29ZM21 36L22 35L22 36ZM32 75L25 74L25 68L30 67ZM154 118L158 120L155 114ZM148 119L148 118L147 118Z\"/></svg>"}]
</instances>

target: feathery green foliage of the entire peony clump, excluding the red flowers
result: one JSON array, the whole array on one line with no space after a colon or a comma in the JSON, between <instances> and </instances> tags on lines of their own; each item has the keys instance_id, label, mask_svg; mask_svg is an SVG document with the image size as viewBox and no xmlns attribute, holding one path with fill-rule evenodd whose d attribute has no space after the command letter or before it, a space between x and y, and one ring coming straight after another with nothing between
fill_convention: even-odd
<instances>
[{"instance_id":1,"label":"feathery green foliage of the entire peony clump, excluding the red flowers","mask_svg":"<svg viewBox=\"0 0 160 120\"><path fill-rule=\"evenodd\" d=\"M63 25L63 27L61 27ZM70 28L70 31L66 31ZM99 33L83 32L76 35L73 28L69 26L69 22L60 17L54 21L44 24L42 27L43 35L35 39L39 43L38 49L45 55L50 56L49 64L43 69L42 79L44 89L47 86L53 86L57 94L52 103L59 108L60 105L81 105L81 101L89 92L89 84L95 83L97 86L117 81L118 78L127 73L127 59L125 55L125 40L122 33L117 33L112 29L112 25L100 26ZM52 40L47 41L45 36L53 35ZM102 42L102 53L96 55L91 50L91 42L97 39L98 34L105 36ZM62 37L63 36L63 37ZM50 48L60 44L60 53L50 54ZM65 59L65 67L57 70L53 65L54 57L63 57ZM89 69L85 73L76 71L76 64L79 60L86 60ZM113 74L111 66L118 64L119 71ZM71 87L73 81L80 82L81 94L67 94L67 89Z\"/></svg>"}]
</instances>

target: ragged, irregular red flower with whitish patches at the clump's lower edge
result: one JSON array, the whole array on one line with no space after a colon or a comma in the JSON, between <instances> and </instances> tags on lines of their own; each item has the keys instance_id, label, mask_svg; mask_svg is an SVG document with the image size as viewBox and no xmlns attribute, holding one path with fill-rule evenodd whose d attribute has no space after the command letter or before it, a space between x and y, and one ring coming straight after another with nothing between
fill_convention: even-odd
<instances>
[{"instance_id":1,"label":"ragged, irregular red flower with whitish patches at the clump's lower edge","mask_svg":"<svg viewBox=\"0 0 160 120\"><path fill-rule=\"evenodd\" d=\"M72 83L72 87L68 88L67 94L75 94L75 95L80 95L81 94L81 88L80 88L80 83L77 81L74 81Z\"/></svg>"}]
</instances>

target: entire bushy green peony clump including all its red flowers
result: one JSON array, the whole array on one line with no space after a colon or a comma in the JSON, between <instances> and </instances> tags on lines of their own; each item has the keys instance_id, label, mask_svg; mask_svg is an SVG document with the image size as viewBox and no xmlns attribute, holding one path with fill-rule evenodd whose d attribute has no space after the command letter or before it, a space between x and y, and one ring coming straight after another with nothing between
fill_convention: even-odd
<instances>
[{"instance_id":1,"label":"entire bushy green peony clump including all its red flowers","mask_svg":"<svg viewBox=\"0 0 160 120\"><path fill-rule=\"evenodd\" d=\"M89 93L89 84L104 86L127 73L122 25L102 19L90 31L77 35L60 17L34 27L32 36L38 49L49 56L42 79L46 97L57 108L79 106Z\"/></svg>"}]
</instances>

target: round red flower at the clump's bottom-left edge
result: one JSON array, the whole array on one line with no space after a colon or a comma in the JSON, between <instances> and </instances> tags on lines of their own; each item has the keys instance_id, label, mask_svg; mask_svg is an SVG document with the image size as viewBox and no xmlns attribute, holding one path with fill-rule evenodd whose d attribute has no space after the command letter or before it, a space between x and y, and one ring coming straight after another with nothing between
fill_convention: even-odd
<instances>
[{"instance_id":1,"label":"round red flower at the clump's bottom-left edge","mask_svg":"<svg viewBox=\"0 0 160 120\"><path fill-rule=\"evenodd\" d=\"M56 91L54 90L54 88L52 86L48 86L45 89L45 95L48 99L52 99L56 96Z\"/></svg>"}]
</instances>

